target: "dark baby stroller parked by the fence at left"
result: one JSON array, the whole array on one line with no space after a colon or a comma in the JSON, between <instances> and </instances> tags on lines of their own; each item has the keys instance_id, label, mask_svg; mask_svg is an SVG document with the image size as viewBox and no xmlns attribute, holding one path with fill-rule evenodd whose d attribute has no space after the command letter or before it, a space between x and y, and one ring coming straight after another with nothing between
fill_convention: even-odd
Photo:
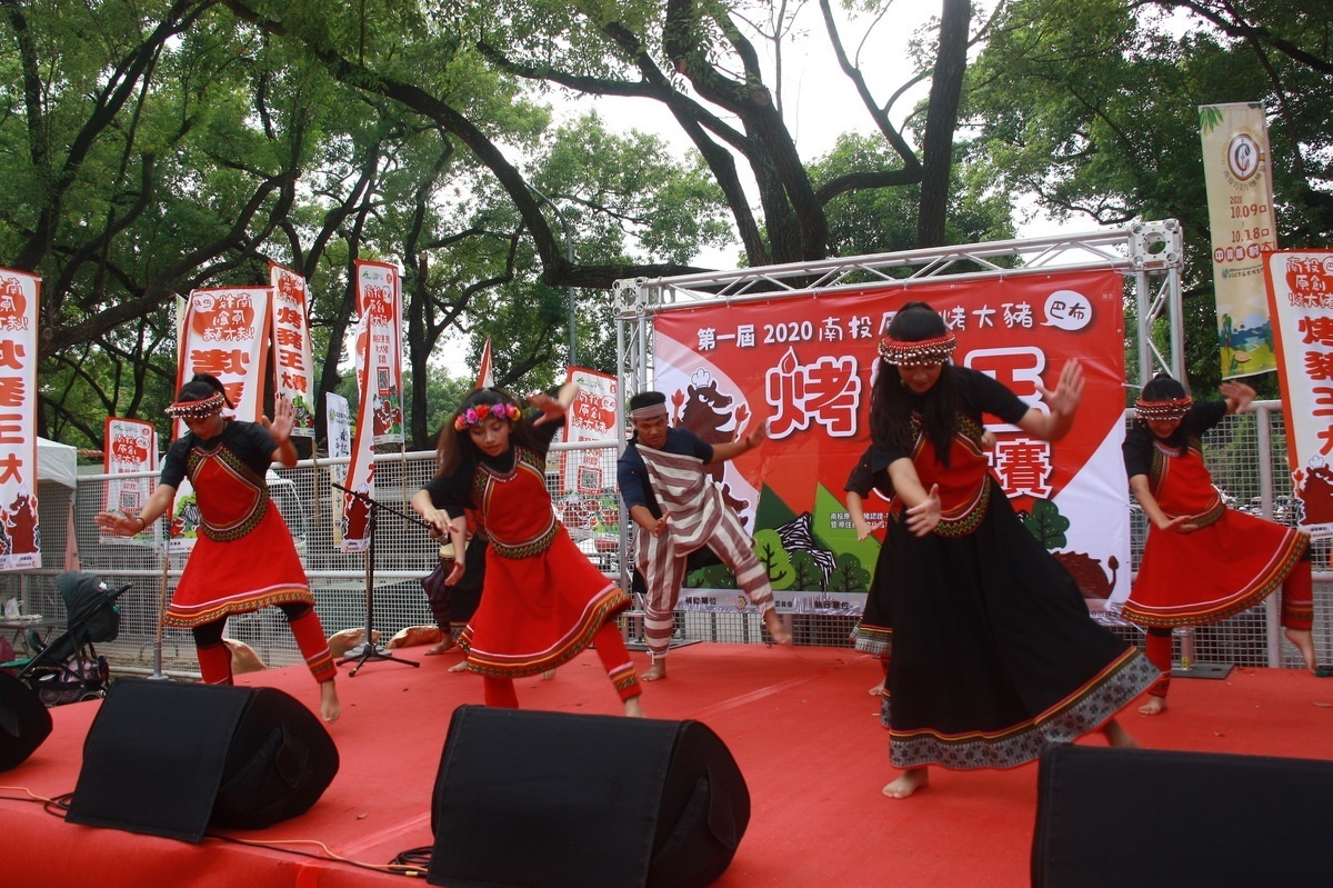
<instances>
[{"instance_id":1,"label":"dark baby stroller parked by the fence at left","mask_svg":"<svg viewBox=\"0 0 1333 888\"><path fill-rule=\"evenodd\" d=\"M107 696L107 657L97 655L93 641L113 641L120 635L116 599L128 588L108 589L92 573L56 576L68 628L45 644L29 629L28 647L36 653L17 675L48 707Z\"/></svg>"}]
</instances>

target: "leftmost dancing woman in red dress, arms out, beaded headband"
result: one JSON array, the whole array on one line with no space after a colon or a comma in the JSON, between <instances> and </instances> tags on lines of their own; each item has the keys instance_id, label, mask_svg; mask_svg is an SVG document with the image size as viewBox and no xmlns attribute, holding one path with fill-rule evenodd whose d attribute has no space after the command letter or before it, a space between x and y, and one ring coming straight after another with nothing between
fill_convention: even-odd
<instances>
[{"instance_id":1,"label":"leftmost dancing woman in red dress, arms out, beaded headband","mask_svg":"<svg viewBox=\"0 0 1333 888\"><path fill-rule=\"evenodd\" d=\"M199 505L199 539L163 625L193 633L205 684L231 684L232 652L223 643L227 617L268 605L281 608L320 685L320 715L333 721L341 713L333 685L337 667L292 533L269 500L264 480L275 461L296 465L291 439L296 412L291 401L279 397L272 423L245 423L224 417L223 407L233 404L221 381L196 373L167 408L167 415L181 419L189 431L167 451L157 489L137 515L108 511L93 520L109 533L139 533L171 509L176 488L188 476Z\"/></svg>"}]
</instances>

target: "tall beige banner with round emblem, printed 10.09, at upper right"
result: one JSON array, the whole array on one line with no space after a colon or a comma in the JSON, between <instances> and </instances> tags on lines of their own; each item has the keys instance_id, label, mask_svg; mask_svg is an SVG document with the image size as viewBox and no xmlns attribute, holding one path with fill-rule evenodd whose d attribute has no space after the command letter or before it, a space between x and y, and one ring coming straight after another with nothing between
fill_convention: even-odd
<instances>
[{"instance_id":1,"label":"tall beige banner with round emblem, printed 10.09, at upper right","mask_svg":"<svg viewBox=\"0 0 1333 888\"><path fill-rule=\"evenodd\" d=\"M1200 105L1204 183L1222 379L1277 368L1264 293L1264 251L1277 248L1264 105Z\"/></svg>"}]
</instances>

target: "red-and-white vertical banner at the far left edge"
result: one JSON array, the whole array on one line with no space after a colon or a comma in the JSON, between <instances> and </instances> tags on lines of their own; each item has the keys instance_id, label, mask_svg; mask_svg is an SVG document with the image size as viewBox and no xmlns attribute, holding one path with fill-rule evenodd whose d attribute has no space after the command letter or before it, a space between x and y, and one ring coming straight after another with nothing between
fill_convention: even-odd
<instances>
[{"instance_id":1,"label":"red-and-white vertical banner at the far left edge","mask_svg":"<svg viewBox=\"0 0 1333 888\"><path fill-rule=\"evenodd\" d=\"M41 567L37 303L41 279L0 268L0 571Z\"/></svg>"}]
</instances>

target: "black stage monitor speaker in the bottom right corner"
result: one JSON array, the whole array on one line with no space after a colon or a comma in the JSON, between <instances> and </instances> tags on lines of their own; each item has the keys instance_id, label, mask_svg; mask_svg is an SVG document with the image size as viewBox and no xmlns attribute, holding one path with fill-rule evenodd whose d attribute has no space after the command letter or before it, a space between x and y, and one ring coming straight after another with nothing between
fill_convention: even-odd
<instances>
[{"instance_id":1,"label":"black stage monitor speaker in the bottom right corner","mask_svg":"<svg viewBox=\"0 0 1333 888\"><path fill-rule=\"evenodd\" d=\"M1333 761L1050 747L1032 884L1333 885L1329 799Z\"/></svg>"}]
</instances>

